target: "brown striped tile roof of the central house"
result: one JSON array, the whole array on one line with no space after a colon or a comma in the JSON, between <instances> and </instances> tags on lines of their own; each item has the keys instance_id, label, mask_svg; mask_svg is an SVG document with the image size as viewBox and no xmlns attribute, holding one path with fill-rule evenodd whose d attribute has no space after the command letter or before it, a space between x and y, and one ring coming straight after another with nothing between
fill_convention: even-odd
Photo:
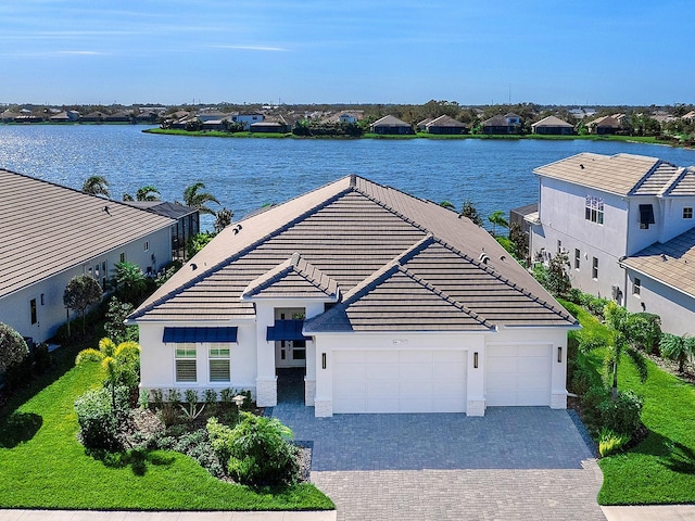
<instances>
[{"instance_id":1,"label":"brown striped tile roof of the central house","mask_svg":"<svg viewBox=\"0 0 695 521\"><path fill-rule=\"evenodd\" d=\"M330 328L478 331L576 323L485 230L357 176L226 228L131 318L253 319L244 293L287 296L291 287L299 295L340 291L336 312L324 314Z\"/></svg>"}]
</instances>

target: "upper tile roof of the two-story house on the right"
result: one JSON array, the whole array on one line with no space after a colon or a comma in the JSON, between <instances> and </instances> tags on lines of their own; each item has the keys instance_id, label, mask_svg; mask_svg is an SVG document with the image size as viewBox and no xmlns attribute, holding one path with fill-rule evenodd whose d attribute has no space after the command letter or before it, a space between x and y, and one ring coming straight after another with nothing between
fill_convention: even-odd
<instances>
[{"instance_id":1,"label":"upper tile roof of the two-story house on the right","mask_svg":"<svg viewBox=\"0 0 695 521\"><path fill-rule=\"evenodd\" d=\"M603 155L584 152L535 168L541 177L568 181L618 195L664 195L679 187L695 190L695 178L678 177L679 168L657 157L633 154ZM675 194L672 193L672 194Z\"/></svg>"}]
</instances>

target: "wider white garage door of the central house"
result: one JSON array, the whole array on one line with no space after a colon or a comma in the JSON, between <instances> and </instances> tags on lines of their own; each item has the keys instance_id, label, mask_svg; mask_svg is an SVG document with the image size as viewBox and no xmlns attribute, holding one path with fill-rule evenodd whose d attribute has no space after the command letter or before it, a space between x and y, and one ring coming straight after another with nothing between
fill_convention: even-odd
<instances>
[{"instance_id":1,"label":"wider white garage door of the central house","mask_svg":"<svg viewBox=\"0 0 695 521\"><path fill-rule=\"evenodd\" d=\"M463 351L336 351L333 412L465 412Z\"/></svg>"}]
</instances>

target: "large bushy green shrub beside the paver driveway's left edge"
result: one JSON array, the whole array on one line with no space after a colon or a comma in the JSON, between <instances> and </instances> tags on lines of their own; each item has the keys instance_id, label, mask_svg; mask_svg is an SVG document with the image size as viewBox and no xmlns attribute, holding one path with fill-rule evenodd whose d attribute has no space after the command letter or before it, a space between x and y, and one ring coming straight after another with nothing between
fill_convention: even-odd
<instances>
[{"instance_id":1,"label":"large bushy green shrub beside the paver driveway's left edge","mask_svg":"<svg viewBox=\"0 0 695 521\"><path fill-rule=\"evenodd\" d=\"M211 418L207 432L220 462L239 483L274 486L296 480L299 449L287 440L292 436L290 428L277 419L241 412L230 429Z\"/></svg>"}]
</instances>

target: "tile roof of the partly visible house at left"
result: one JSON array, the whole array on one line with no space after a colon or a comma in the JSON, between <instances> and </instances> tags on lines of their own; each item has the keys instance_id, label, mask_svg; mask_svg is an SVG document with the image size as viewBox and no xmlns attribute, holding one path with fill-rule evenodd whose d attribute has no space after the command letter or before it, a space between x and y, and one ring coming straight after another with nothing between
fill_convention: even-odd
<instances>
[{"instance_id":1,"label":"tile roof of the partly visible house at left","mask_svg":"<svg viewBox=\"0 0 695 521\"><path fill-rule=\"evenodd\" d=\"M4 169L0 187L0 297L174 223Z\"/></svg>"}]
</instances>

